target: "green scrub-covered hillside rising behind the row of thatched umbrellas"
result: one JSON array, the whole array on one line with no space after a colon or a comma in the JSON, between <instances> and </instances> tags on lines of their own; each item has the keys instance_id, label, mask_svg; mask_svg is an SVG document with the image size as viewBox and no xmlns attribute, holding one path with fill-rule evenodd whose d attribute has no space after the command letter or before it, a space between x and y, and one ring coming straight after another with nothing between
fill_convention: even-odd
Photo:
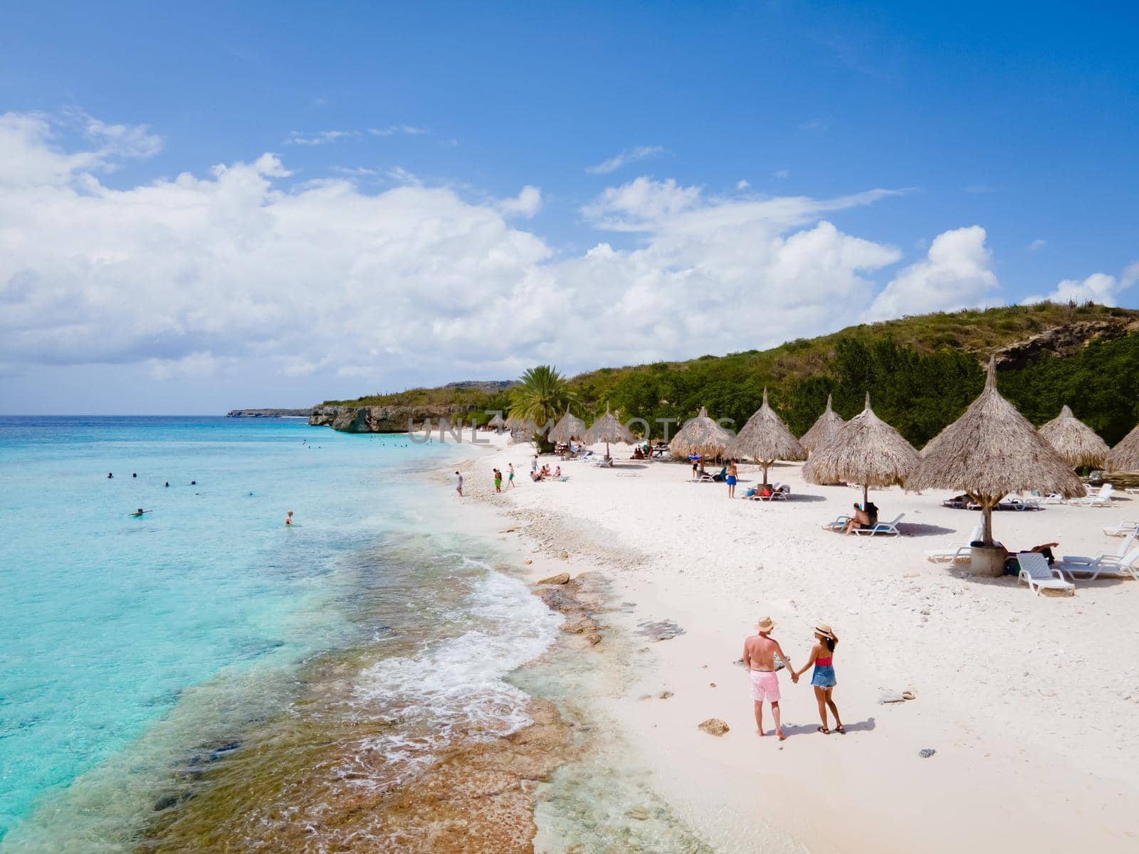
<instances>
[{"instance_id":1,"label":"green scrub-covered hillside rising behind the row of thatched umbrellas","mask_svg":"<svg viewBox=\"0 0 1139 854\"><path fill-rule=\"evenodd\" d=\"M835 411L850 418L861 411L869 391L879 417L921 447L980 393L982 363L990 353L1048 329L1089 321L1089 336L1099 327L1121 335L1128 323L1139 321L1139 312L1041 303L925 314L863 323L765 351L603 368L558 380L587 421L609 404L622 419L648 421L655 437L665 429L674 434L675 425L695 416L700 407L741 427L759 409L764 387L787 426L802 435L822 411L828 393L834 394ZM1139 332L1096 339L1072 350L1066 356L1044 352L1034 364L1001 371L1001 392L1035 425L1054 418L1067 403L1077 418L1114 444L1139 420ZM532 373L527 371L527 376ZM459 404L470 407L472 414L485 422L490 416L484 410L516 409L513 393L417 388L339 403ZM564 400L554 411L555 417L565 411ZM671 422L665 427L658 419ZM546 418L534 420L544 422Z\"/></svg>"}]
</instances>

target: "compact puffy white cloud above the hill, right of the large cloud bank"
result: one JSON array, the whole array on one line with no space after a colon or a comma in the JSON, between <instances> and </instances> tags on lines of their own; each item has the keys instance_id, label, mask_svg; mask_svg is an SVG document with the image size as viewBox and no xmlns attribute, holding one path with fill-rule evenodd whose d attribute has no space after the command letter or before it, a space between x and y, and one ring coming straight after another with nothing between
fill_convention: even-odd
<instances>
[{"instance_id":1,"label":"compact puffy white cloud above the hill, right of the large cloud bank","mask_svg":"<svg viewBox=\"0 0 1139 854\"><path fill-rule=\"evenodd\" d=\"M990 255L980 225L943 231L925 260L907 266L878 294L867 320L983 305L997 289Z\"/></svg>"}]
</instances>

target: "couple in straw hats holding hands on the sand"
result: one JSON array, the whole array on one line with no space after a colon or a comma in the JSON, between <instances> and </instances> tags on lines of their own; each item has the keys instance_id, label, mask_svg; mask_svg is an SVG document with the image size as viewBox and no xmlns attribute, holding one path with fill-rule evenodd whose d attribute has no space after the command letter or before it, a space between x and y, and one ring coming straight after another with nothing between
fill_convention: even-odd
<instances>
[{"instance_id":1,"label":"couple in straw hats holding hands on the sand","mask_svg":"<svg viewBox=\"0 0 1139 854\"><path fill-rule=\"evenodd\" d=\"M798 682L798 678L806 672L808 667L814 666L811 684L814 687L814 698L819 704L819 717L822 718L819 732L825 736L830 733L830 729L827 726L827 709L829 708L835 716L835 732L845 733L846 730L843 729L843 722L838 717L838 707L831 699L831 692L835 689L834 656L838 638L830 631L830 626L826 623L819 623L814 627L816 643L811 648L811 657L798 671L787 659L779 641L771 637L771 631L776 627L775 621L771 617L763 617L755 627L759 630L759 634L753 634L744 641L744 665L748 670L752 683L757 734L763 734L763 701L767 700L771 704L771 716L776 720L776 734L780 741L787 738L779 724L779 678L776 675L776 656L779 656L787 667L792 682Z\"/></svg>"}]
</instances>

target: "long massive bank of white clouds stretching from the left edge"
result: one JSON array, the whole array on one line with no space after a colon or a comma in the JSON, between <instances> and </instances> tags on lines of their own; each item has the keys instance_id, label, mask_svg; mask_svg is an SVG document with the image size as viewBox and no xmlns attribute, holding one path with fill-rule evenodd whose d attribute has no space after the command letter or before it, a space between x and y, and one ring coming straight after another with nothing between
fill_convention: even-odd
<instances>
[{"instance_id":1,"label":"long massive bank of white clouds stretching from the left edge","mask_svg":"<svg viewBox=\"0 0 1139 854\"><path fill-rule=\"evenodd\" d=\"M273 154L104 186L129 150L60 145L42 117L0 120L0 363L132 364L251 389L273 376L338 373L369 391L544 361L576 370L837 328L901 257L828 219L888 190L712 197L638 178L583 211L634 245L568 252L511 224L539 211L536 187L486 199L408 173L382 192L355 175L296 183Z\"/></svg>"}]
</instances>

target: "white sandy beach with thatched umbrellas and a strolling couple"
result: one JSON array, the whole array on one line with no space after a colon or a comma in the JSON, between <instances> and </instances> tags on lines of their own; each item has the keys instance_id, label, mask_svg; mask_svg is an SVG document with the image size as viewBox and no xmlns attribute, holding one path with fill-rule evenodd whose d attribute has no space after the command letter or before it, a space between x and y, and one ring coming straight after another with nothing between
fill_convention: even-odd
<instances>
[{"instance_id":1,"label":"white sandy beach with thatched umbrellas and a strolling couple","mask_svg":"<svg viewBox=\"0 0 1139 854\"><path fill-rule=\"evenodd\" d=\"M493 436L466 470L468 500L513 514L533 578L599 570L605 615L636 638L674 621L683 634L636 643L626 681L596 698L652 769L654 789L724 852L1134 851L1139 819L1139 585L1077 582L1074 597L1031 594L1013 577L973 578L967 565L928 563L926 549L967 541L980 515L942 508L942 493L874 491L882 518L906 512L900 537L843 537L820 523L860 493L805 484L800 465L770 479L785 502L727 496L689 467L628 460L613 469L566 462L567 482L534 484L531 445ZM543 458L544 461L544 458ZM514 462L517 487L494 495L491 468ZM551 466L557 463L550 458ZM741 467L740 494L759 479ZM1114 551L1101 528L1139 517L1111 508L1048 506L994 514L1010 548L1058 541L1057 555ZM519 523L521 519L521 523ZM568 559L559 559L562 551ZM755 734L737 664L756 619L797 667L812 627L841 638L835 700L847 733L822 736L810 673L780 675L788 739ZM884 691L915 699L882 705ZM667 699L659 699L671 691ZM650 695L652 699L645 696ZM708 717L731 730L697 730ZM918 752L936 754L921 758ZM793 840L793 841L790 841Z\"/></svg>"}]
</instances>

